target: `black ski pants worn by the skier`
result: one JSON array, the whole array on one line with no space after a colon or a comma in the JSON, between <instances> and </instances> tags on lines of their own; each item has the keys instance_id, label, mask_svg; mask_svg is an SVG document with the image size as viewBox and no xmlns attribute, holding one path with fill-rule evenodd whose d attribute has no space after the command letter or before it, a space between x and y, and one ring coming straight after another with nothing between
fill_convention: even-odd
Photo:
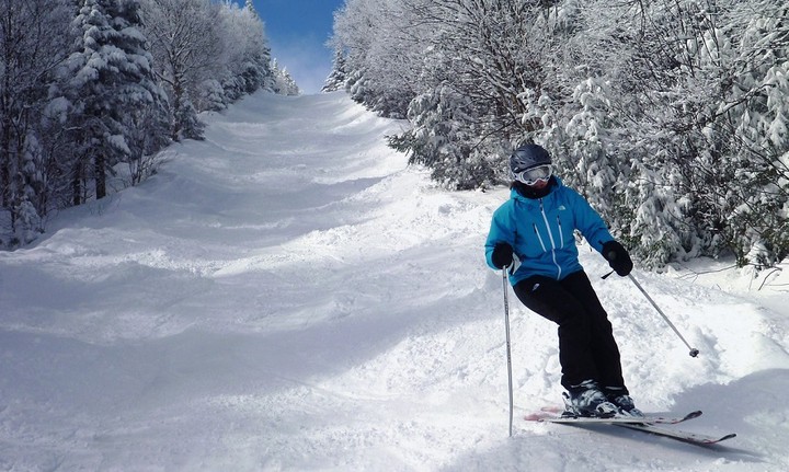
<instances>
[{"instance_id":1,"label":"black ski pants worn by the skier","mask_svg":"<svg viewBox=\"0 0 789 472\"><path fill-rule=\"evenodd\" d=\"M514 290L529 310L559 325L559 362L565 389L584 380L596 380L603 388L625 388L608 314L585 272L561 280L529 277L516 284ZM624 393L628 393L626 388Z\"/></svg>"}]
</instances>

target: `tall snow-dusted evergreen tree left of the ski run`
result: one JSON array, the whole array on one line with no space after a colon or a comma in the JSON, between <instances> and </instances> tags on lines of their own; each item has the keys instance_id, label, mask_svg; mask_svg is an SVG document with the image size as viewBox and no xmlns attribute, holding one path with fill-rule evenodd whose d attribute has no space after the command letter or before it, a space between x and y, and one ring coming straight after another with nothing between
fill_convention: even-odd
<instances>
[{"instance_id":1,"label":"tall snow-dusted evergreen tree left of the ski run","mask_svg":"<svg viewBox=\"0 0 789 472\"><path fill-rule=\"evenodd\" d=\"M84 0L75 20L82 35L69 59L69 96L79 115L85 161L73 177L76 183L92 180L96 198L106 195L113 166L135 159L135 148L141 148L135 128L148 123L137 115L148 116L163 100L139 25L135 0Z\"/></svg>"}]
</instances>

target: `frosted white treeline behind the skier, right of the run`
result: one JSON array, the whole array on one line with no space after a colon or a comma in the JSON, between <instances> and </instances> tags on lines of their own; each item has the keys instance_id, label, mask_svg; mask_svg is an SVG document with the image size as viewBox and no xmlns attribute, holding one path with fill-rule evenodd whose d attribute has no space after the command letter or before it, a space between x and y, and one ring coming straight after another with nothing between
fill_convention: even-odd
<instances>
[{"instance_id":1,"label":"frosted white treeline behind the skier, right of the run","mask_svg":"<svg viewBox=\"0 0 789 472\"><path fill-rule=\"evenodd\" d=\"M644 266L789 254L785 0L346 0L327 89L447 186L549 149Z\"/></svg>"}]
</instances>

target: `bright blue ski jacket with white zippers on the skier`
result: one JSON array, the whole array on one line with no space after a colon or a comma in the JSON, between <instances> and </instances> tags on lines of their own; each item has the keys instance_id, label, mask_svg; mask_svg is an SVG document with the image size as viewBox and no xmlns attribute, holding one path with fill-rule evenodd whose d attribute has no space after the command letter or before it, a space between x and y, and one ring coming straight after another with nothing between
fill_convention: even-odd
<instances>
[{"instance_id":1,"label":"bright blue ski jacket with white zippers on the skier","mask_svg":"<svg viewBox=\"0 0 789 472\"><path fill-rule=\"evenodd\" d=\"M491 261L493 247L499 242L510 244L517 257L514 273L510 274L513 286L535 275L561 280L582 270L575 230L599 253L603 244L614 240L603 218L588 202L564 186L559 177L553 179L545 197L527 198L513 188L510 199L493 212L485 242L485 258L490 267L501 270Z\"/></svg>"}]
</instances>

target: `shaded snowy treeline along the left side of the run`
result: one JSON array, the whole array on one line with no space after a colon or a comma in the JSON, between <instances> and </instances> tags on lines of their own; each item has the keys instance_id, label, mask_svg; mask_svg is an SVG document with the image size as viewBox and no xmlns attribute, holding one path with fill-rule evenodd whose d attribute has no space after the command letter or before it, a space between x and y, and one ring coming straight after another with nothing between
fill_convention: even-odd
<instances>
[{"instance_id":1,"label":"shaded snowy treeline along the left side of the run","mask_svg":"<svg viewBox=\"0 0 789 472\"><path fill-rule=\"evenodd\" d=\"M0 2L0 247L53 210L134 185L197 114L265 89L297 94L272 67L263 23L210 0Z\"/></svg>"}]
</instances>

